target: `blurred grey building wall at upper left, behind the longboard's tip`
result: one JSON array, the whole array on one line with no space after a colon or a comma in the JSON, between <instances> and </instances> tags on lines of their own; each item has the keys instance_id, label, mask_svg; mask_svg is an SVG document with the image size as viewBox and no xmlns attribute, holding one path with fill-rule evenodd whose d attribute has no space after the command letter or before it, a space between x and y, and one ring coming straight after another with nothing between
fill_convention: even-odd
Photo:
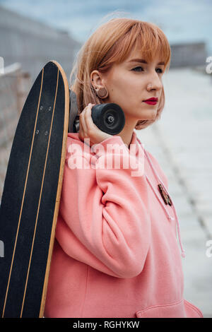
<instances>
[{"instance_id":1,"label":"blurred grey building wall at upper left, behind the longboard's tip","mask_svg":"<svg viewBox=\"0 0 212 332\"><path fill-rule=\"evenodd\" d=\"M80 47L66 32L0 6L0 56L5 66L19 62L33 81L50 60L61 64L69 80L73 58Z\"/></svg>"}]
</instances>

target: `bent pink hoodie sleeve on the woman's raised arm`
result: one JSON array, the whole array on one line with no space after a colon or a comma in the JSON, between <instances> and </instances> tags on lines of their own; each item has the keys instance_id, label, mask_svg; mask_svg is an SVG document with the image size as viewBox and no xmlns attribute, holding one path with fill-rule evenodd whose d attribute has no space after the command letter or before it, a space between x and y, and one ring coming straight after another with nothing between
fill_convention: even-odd
<instances>
[{"instance_id":1,"label":"bent pink hoodie sleeve on the woman's raised arm","mask_svg":"<svg viewBox=\"0 0 212 332\"><path fill-rule=\"evenodd\" d=\"M120 136L100 144L103 153L97 145L94 155L75 154L78 162L87 160L87 168L71 169L74 153L66 154L56 237L73 259L117 278L132 278L141 273L151 240L147 182L143 172L132 176L139 162ZM107 144L124 147L124 153L107 152ZM117 158L120 167L108 168Z\"/></svg>"}]
</instances>

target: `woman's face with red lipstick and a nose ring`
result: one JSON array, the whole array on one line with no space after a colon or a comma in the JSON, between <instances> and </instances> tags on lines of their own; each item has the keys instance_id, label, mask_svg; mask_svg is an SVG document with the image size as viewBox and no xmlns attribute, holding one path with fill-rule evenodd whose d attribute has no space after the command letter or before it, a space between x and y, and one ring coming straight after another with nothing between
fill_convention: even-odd
<instances>
[{"instance_id":1,"label":"woman's face with red lipstick and a nose ring","mask_svg":"<svg viewBox=\"0 0 212 332\"><path fill-rule=\"evenodd\" d=\"M133 50L122 64L114 64L109 72L102 75L102 84L109 93L106 102L114 102L122 107L126 121L133 127L138 120L155 119L165 68L163 64L159 64L160 59L154 59L148 64L139 59L141 52L139 54ZM158 97L155 105L143 102L151 97Z\"/></svg>"}]
</instances>

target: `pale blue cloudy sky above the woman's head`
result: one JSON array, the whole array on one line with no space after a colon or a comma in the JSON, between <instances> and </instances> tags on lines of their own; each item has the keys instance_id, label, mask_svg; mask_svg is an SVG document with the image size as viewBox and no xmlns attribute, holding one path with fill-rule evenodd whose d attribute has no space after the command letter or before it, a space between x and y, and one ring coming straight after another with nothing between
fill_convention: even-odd
<instances>
[{"instance_id":1,"label":"pale blue cloudy sky above the woman's head","mask_svg":"<svg viewBox=\"0 0 212 332\"><path fill-rule=\"evenodd\" d=\"M0 5L66 30L81 43L109 18L138 18L158 25L172 44L206 42L212 55L212 0L0 0Z\"/></svg>"}]
</instances>

